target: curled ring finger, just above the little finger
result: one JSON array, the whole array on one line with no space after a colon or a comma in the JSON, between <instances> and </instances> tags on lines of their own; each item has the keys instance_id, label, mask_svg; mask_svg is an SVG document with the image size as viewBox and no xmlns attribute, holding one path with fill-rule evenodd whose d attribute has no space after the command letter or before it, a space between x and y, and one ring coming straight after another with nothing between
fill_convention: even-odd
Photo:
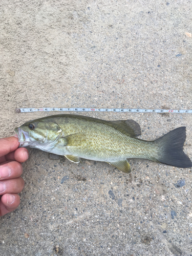
<instances>
[{"instance_id":1,"label":"curled ring finger, just above the little finger","mask_svg":"<svg viewBox=\"0 0 192 256\"><path fill-rule=\"evenodd\" d=\"M11 180L0 181L0 195L7 193L20 193L24 188L24 180L19 177Z\"/></svg>"}]
</instances>

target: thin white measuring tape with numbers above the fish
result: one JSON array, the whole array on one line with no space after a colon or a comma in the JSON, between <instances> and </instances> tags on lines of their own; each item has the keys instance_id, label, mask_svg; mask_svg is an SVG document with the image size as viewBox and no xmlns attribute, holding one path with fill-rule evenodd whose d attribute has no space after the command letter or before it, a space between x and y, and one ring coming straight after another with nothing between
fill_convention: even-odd
<instances>
[{"instance_id":1,"label":"thin white measuring tape with numbers above the fish","mask_svg":"<svg viewBox=\"0 0 192 256\"><path fill-rule=\"evenodd\" d=\"M129 113L192 113L192 110L162 110L162 109L90 109L90 108L22 108L15 109L16 113L29 112L129 112Z\"/></svg>"}]
</instances>

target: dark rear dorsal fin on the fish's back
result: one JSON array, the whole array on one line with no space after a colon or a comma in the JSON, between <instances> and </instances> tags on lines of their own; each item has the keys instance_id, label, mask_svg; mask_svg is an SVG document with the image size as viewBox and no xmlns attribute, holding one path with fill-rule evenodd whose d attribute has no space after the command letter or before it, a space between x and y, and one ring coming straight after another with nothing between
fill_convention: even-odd
<instances>
[{"instance_id":1,"label":"dark rear dorsal fin on the fish's back","mask_svg":"<svg viewBox=\"0 0 192 256\"><path fill-rule=\"evenodd\" d=\"M141 135L141 127L140 125L131 119L128 120L119 120L119 121L110 121L120 126L123 130L129 133L130 136L136 137Z\"/></svg>"}]
</instances>

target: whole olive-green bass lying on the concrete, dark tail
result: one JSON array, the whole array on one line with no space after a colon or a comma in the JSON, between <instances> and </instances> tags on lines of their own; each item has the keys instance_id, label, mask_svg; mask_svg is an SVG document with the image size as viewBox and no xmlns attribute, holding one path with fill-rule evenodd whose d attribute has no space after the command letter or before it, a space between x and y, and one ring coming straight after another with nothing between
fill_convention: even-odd
<instances>
[{"instance_id":1,"label":"whole olive-green bass lying on the concrete, dark tail","mask_svg":"<svg viewBox=\"0 0 192 256\"><path fill-rule=\"evenodd\" d=\"M140 125L131 119L106 121L88 116L63 114L38 118L16 127L20 147L65 156L73 163L81 158L107 162L124 173L130 173L127 159L139 158L191 167L183 152L186 127L178 127L162 137L148 141L137 138Z\"/></svg>"}]
</instances>

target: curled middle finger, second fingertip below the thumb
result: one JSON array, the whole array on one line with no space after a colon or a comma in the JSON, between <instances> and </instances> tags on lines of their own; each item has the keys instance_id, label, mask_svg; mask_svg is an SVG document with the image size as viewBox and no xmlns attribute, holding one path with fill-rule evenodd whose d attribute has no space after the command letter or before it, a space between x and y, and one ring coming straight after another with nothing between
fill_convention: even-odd
<instances>
[{"instance_id":1,"label":"curled middle finger, second fingertip below the thumb","mask_svg":"<svg viewBox=\"0 0 192 256\"><path fill-rule=\"evenodd\" d=\"M23 173L22 164L12 161L0 165L0 180L18 178Z\"/></svg>"}]
</instances>

